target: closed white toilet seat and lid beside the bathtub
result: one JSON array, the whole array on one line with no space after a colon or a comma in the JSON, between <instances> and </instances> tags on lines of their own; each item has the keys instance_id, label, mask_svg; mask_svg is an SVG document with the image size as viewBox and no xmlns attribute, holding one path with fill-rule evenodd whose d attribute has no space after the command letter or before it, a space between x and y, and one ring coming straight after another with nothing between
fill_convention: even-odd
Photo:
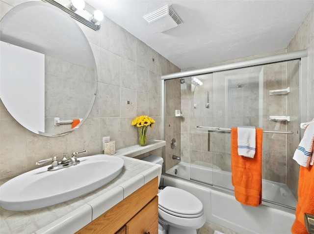
<instances>
[{"instance_id":1,"label":"closed white toilet seat and lid beside the bathtub","mask_svg":"<svg viewBox=\"0 0 314 234\"><path fill-rule=\"evenodd\" d=\"M158 193L158 208L182 218L197 218L203 215L203 204L193 194L176 187L167 186Z\"/></svg>"}]
</instances>

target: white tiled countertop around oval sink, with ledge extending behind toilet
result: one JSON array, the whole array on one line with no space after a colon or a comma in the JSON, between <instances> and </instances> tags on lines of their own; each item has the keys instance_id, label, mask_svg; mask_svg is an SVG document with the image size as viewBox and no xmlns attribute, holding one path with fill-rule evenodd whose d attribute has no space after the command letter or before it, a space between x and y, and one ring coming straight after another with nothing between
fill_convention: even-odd
<instances>
[{"instance_id":1,"label":"white tiled countertop around oval sink, with ledge extending behind toilet","mask_svg":"<svg viewBox=\"0 0 314 234\"><path fill-rule=\"evenodd\" d=\"M124 159L124 166L119 176L97 190L78 198L50 207L27 211L8 211L0 208L0 233L77 232L132 192L158 176L161 173L160 165L132 157L164 145L164 141L156 140L149 142L148 146L145 147L132 146L116 151L114 156Z\"/></svg>"}]
</instances>

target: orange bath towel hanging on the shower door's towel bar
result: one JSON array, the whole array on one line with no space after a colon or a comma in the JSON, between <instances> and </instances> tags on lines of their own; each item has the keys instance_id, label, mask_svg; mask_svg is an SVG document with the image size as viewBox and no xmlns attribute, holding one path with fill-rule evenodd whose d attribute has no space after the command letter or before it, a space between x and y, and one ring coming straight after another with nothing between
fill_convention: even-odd
<instances>
[{"instance_id":1,"label":"orange bath towel hanging on the shower door's towel bar","mask_svg":"<svg viewBox=\"0 0 314 234\"><path fill-rule=\"evenodd\" d=\"M237 128L231 128L231 179L235 187L235 199L253 207L262 204L262 137L263 130L256 129L254 158L239 156Z\"/></svg>"}]
</instances>

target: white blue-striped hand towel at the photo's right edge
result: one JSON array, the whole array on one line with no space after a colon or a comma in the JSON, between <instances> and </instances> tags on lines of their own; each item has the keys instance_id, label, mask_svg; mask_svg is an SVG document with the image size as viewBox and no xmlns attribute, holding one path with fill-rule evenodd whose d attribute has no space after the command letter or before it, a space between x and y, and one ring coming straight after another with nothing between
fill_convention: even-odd
<instances>
[{"instance_id":1,"label":"white blue-striped hand towel at the photo's right edge","mask_svg":"<svg viewBox=\"0 0 314 234\"><path fill-rule=\"evenodd\" d=\"M313 158L313 145L314 145L314 123L310 123L305 129L303 138L300 141L298 148L296 148L293 159L301 166L309 167L311 157Z\"/></svg>"}]
</instances>

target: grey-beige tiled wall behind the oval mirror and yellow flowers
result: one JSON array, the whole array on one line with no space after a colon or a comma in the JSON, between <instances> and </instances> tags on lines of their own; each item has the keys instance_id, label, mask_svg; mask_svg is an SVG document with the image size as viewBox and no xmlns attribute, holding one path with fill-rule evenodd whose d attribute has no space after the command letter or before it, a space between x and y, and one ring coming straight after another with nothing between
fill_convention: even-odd
<instances>
[{"instance_id":1,"label":"grey-beige tiled wall behind the oval mirror and yellow flowers","mask_svg":"<svg viewBox=\"0 0 314 234\"><path fill-rule=\"evenodd\" d=\"M1 0L0 18L27 0ZM128 31L105 17L94 31L78 23L94 52L98 69L96 101L86 121L65 136L45 137L26 130L0 102L0 179L35 169L35 162L86 149L100 154L102 137L115 140L116 149L138 143L131 121L138 115L156 120L148 140L162 139L160 76L180 69ZM131 104L126 104L130 101Z\"/></svg>"}]
</instances>

